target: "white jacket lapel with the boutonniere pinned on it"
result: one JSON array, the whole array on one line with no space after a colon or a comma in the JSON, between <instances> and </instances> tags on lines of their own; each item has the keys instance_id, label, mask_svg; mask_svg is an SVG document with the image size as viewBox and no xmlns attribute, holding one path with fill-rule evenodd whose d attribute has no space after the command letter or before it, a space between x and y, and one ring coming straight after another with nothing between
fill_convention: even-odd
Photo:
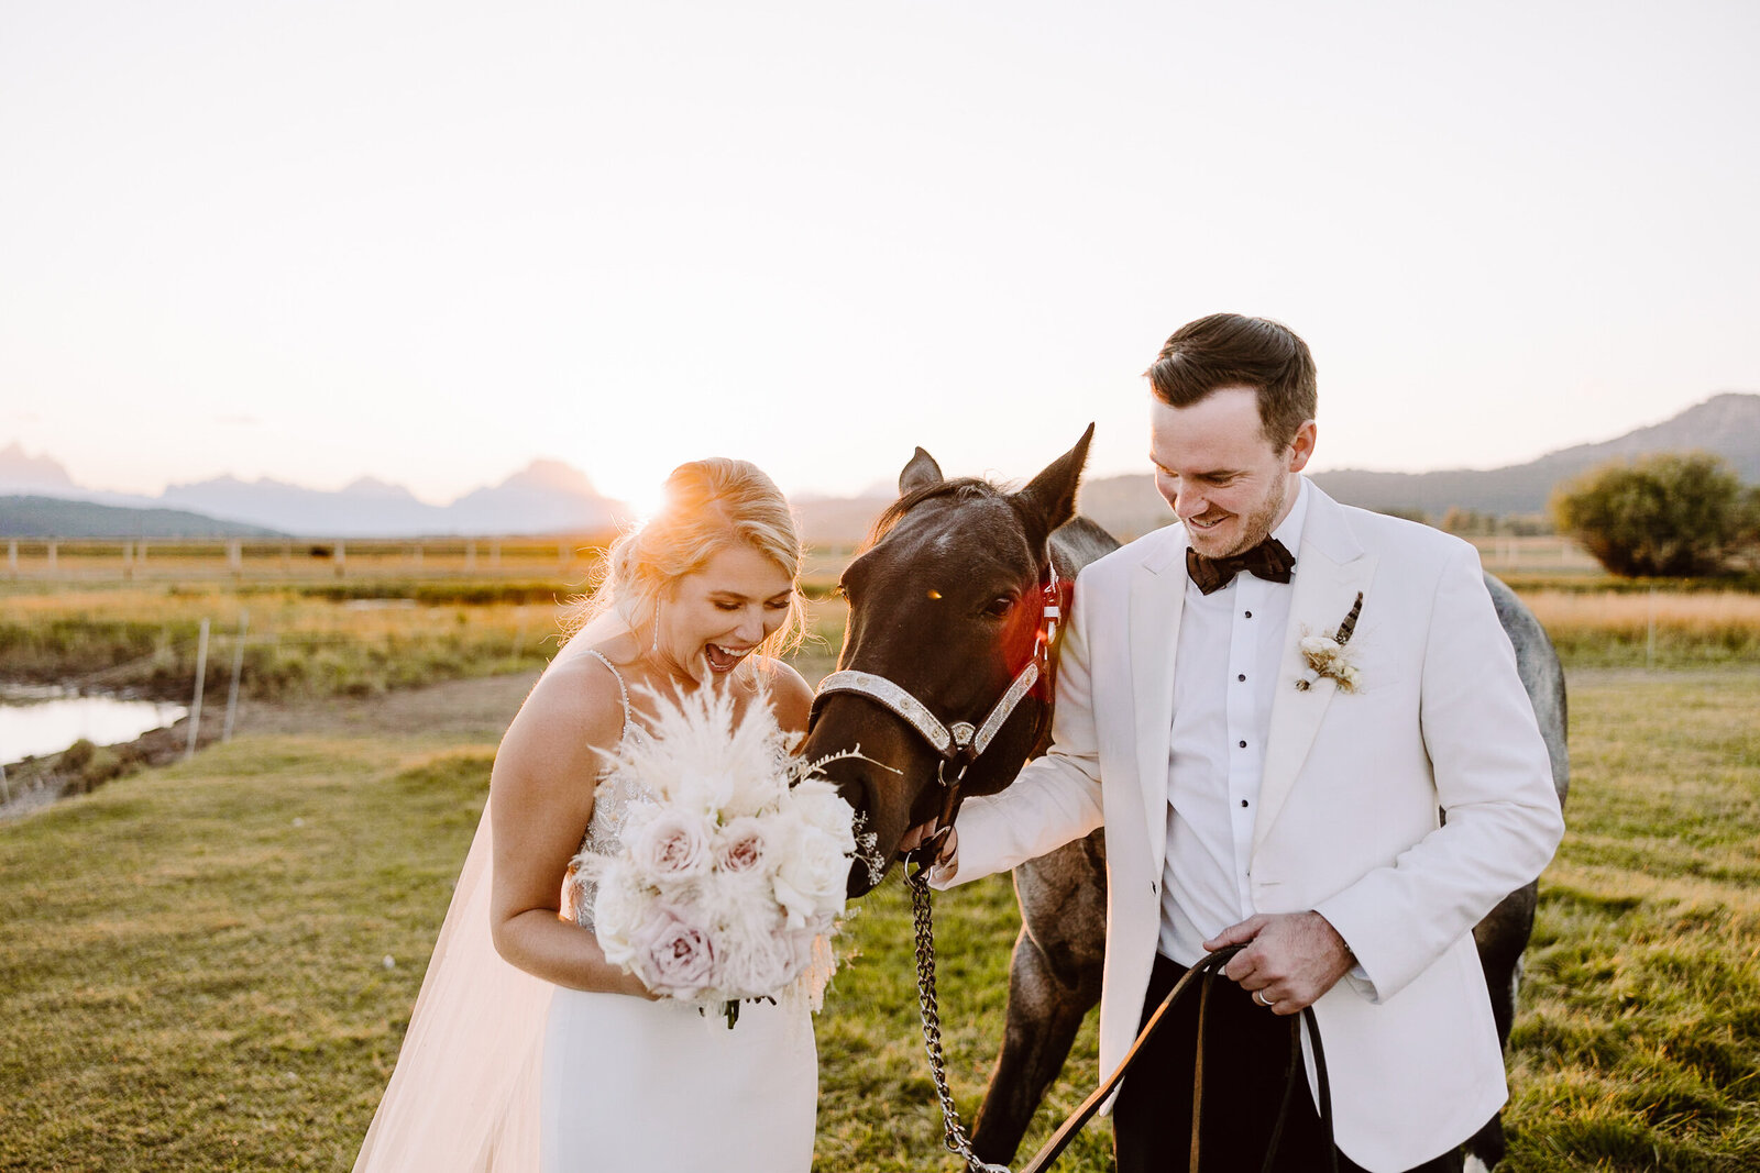
<instances>
[{"instance_id":1,"label":"white jacket lapel with the boutonniere pinned on it","mask_svg":"<svg viewBox=\"0 0 1760 1173\"><path fill-rule=\"evenodd\" d=\"M1301 554L1295 559L1290 624L1283 631L1283 659L1278 667L1276 696L1271 700L1271 730L1265 739L1265 772L1258 786L1258 818L1253 820L1253 851L1278 821L1290 786L1308 758L1320 721L1338 684L1320 679L1308 691L1295 688L1302 674L1299 642L1304 635L1338 631L1357 593L1375 579L1376 559L1364 554L1350 531L1345 510L1309 482L1308 519L1302 524Z\"/></svg>"}]
</instances>

